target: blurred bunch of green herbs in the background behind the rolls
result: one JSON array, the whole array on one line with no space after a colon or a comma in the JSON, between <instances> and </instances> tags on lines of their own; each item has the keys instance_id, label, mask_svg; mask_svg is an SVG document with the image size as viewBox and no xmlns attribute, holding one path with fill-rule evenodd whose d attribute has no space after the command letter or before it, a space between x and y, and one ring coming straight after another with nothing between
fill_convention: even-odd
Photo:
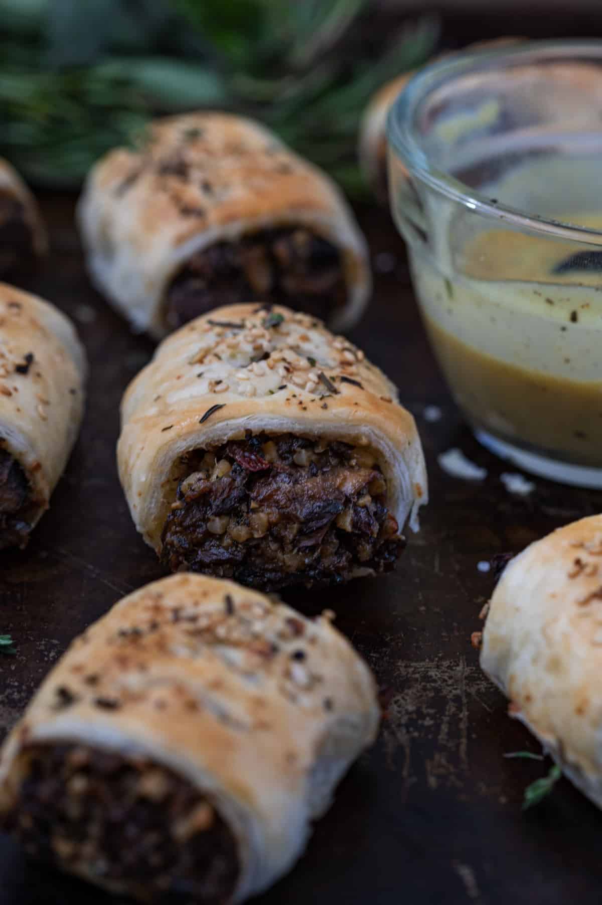
<instances>
[{"instance_id":1,"label":"blurred bunch of green herbs in the background behind the rolls","mask_svg":"<svg viewBox=\"0 0 602 905\"><path fill-rule=\"evenodd\" d=\"M264 121L357 193L362 110L437 40L423 17L375 53L359 40L370 5L0 0L0 155L38 184L78 186L153 115L221 108Z\"/></svg>"}]
</instances>

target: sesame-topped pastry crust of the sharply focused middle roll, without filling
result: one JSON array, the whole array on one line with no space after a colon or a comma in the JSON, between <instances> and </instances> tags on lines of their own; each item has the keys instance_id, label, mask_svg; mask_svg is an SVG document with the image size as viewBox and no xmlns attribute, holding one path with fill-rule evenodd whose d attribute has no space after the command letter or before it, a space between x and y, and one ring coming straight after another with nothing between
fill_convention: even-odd
<instances>
[{"instance_id":1,"label":"sesame-topped pastry crust of the sharply focused middle roll, without filling","mask_svg":"<svg viewBox=\"0 0 602 905\"><path fill-rule=\"evenodd\" d=\"M197 318L166 338L127 387L119 477L136 528L158 554L175 500L174 464L184 452L242 439L248 430L372 447L387 479L389 510L400 527L411 513L417 527L416 510L427 501L426 466L416 424L395 387L361 349L320 321L279 305L269 317L282 322L263 326L268 312L255 304ZM267 361L252 361L267 352Z\"/></svg>"}]
</instances>

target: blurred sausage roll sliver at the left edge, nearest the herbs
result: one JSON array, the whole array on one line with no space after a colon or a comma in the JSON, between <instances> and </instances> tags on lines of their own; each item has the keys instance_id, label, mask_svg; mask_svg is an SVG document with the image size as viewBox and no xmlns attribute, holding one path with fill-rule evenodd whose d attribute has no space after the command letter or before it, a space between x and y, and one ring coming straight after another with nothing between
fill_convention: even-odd
<instances>
[{"instance_id":1,"label":"blurred sausage roll sliver at the left edge, nearest the herbs","mask_svg":"<svg viewBox=\"0 0 602 905\"><path fill-rule=\"evenodd\" d=\"M0 157L0 275L12 275L46 252L38 205L14 167Z\"/></svg>"}]
</instances>

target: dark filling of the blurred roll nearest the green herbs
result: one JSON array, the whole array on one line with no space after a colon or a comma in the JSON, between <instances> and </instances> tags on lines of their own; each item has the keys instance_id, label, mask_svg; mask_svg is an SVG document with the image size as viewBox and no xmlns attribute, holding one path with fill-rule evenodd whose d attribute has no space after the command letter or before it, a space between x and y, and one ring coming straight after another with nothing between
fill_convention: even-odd
<instances>
[{"instance_id":1,"label":"dark filling of the blurred roll nearest the green herbs","mask_svg":"<svg viewBox=\"0 0 602 905\"><path fill-rule=\"evenodd\" d=\"M170 329L221 305L280 302L328 319L347 297L337 248L304 227L261 230L197 252L167 291Z\"/></svg>"}]
</instances>

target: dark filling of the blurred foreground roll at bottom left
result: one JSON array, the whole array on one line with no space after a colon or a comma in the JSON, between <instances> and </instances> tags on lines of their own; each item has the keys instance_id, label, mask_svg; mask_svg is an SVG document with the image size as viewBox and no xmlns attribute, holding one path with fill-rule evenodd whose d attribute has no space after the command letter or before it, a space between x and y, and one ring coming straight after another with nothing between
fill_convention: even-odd
<instances>
[{"instance_id":1,"label":"dark filling of the blurred foreground roll at bottom left","mask_svg":"<svg viewBox=\"0 0 602 905\"><path fill-rule=\"evenodd\" d=\"M28 853L143 901L230 901L240 874L236 843L180 776L81 745L33 745L23 757L6 829Z\"/></svg>"}]
</instances>

